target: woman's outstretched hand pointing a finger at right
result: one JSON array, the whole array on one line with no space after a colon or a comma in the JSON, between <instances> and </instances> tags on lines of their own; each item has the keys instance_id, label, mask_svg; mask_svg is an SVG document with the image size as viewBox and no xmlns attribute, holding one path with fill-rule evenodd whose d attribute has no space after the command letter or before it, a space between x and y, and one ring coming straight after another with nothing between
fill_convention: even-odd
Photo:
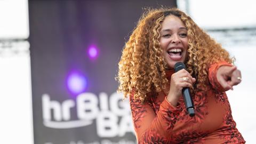
<instances>
[{"instance_id":1,"label":"woman's outstretched hand pointing a finger at right","mask_svg":"<svg viewBox=\"0 0 256 144\"><path fill-rule=\"evenodd\" d=\"M233 90L233 86L242 81L241 71L236 66L221 66L217 71L217 80L225 91Z\"/></svg>"}]
</instances>

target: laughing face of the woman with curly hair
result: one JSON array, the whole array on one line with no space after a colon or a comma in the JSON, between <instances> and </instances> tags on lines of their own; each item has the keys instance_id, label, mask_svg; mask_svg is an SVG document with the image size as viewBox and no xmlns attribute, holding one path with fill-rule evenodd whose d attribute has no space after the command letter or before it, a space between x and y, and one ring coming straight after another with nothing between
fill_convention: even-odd
<instances>
[{"instance_id":1,"label":"laughing face of the woman with curly hair","mask_svg":"<svg viewBox=\"0 0 256 144\"><path fill-rule=\"evenodd\" d=\"M160 31L160 45L163 57L169 68L174 68L176 62L184 62L187 57L188 36L187 28L174 15L168 15Z\"/></svg>"}]
</instances>

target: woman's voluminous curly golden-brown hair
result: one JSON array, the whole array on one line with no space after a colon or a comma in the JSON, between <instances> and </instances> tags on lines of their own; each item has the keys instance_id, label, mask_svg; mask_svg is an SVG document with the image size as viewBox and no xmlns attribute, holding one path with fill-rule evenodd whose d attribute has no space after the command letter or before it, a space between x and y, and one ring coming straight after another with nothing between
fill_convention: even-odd
<instances>
[{"instance_id":1,"label":"woman's voluminous curly golden-brown hair","mask_svg":"<svg viewBox=\"0 0 256 144\"><path fill-rule=\"evenodd\" d=\"M148 9L126 42L118 63L118 91L123 92L125 98L134 92L134 98L144 102L167 84L167 67L159 43L159 31L168 15L180 18L187 28L188 56L185 65L190 75L197 79L192 93L209 89L207 70L212 63L232 62L229 53L184 12L177 8Z\"/></svg>"}]
</instances>

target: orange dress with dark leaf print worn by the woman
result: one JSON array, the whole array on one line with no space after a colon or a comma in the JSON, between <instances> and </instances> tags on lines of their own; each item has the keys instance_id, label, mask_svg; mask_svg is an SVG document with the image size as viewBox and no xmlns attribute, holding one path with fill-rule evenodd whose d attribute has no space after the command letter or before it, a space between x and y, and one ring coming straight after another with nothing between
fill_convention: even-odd
<instances>
[{"instance_id":1,"label":"orange dress with dark leaf print worn by the woman","mask_svg":"<svg viewBox=\"0 0 256 144\"><path fill-rule=\"evenodd\" d=\"M209 68L211 90L193 95L195 116L187 113L183 98L174 107L164 92L141 103L130 96L133 126L138 143L245 143L231 115L228 98L217 81L220 62ZM167 71L170 79L174 71Z\"/></svg>"}]
</instances>

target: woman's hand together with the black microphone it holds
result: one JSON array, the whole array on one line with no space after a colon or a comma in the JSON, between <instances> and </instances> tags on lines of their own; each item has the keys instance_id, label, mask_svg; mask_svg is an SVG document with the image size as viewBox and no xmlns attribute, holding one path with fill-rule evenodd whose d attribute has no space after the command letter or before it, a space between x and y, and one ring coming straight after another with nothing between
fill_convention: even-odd
<instances>
[{"instance_id":1,"label":"woman's hand together with the black microphone it holds","mask_svg":"<svg viewBox=\"0 0 256 144\"><path fill-rule=\"evenodd\" d=\"M186 71L186 67L182 62L175 63L174 70L175 73L171 77L170 90L167 100L176 106L182 94L189 116L194 116L194 103L191 98L189 88L193 87L193 83L196 81L196 79L191 77L188 71Z\"/></svg>"}]
</instances>

